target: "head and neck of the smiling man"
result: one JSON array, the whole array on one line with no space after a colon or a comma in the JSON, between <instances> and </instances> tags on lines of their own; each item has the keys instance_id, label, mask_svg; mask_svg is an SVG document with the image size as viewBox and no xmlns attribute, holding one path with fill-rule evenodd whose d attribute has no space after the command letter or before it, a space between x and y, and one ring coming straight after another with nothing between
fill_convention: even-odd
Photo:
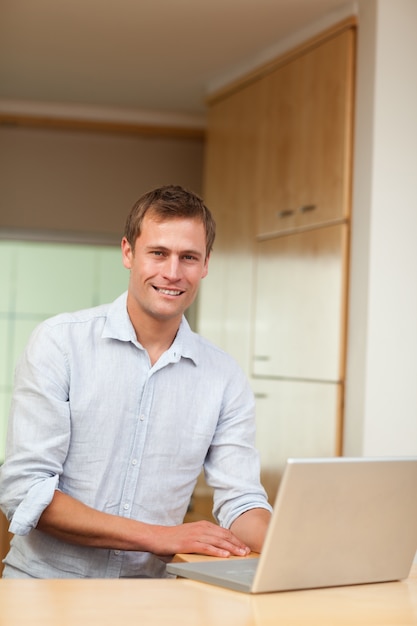
<instances>
[{"instance_id":1,"label":"head and neck of the smiling man","mask_svg":"<svg viewBox=\"0 0 417 626\"><path fill-rule=\"evenodd\" d=\"M122 254L130 270L127 310L138 340L154 363L171 345L184 311L207 275L215 230L204 205L202 218L193 216L188 204L184 215L177 211L173 217L167 205L158 204L152 193L149 196L131 213ZM206 228L210 232L208 243Z\"/></svg>"}]
</instances>

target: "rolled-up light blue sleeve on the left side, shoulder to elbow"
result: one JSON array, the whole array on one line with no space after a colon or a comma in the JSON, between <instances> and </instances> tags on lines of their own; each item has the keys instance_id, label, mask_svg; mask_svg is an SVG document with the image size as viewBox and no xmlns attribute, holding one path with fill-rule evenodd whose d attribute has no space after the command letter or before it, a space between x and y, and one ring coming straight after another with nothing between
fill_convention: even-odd
<instances>
[{"instance_id":1,"label":"rolled-up light blue sleeve on the left side, shoulder to elbow","mask_svg":"<svg viewBox=\"0 0 417 626\"><path fill-rule=\"evenodd\" d=\"M70 438L66 369L59 341L41 324L16 370L0 468L0 507L13 534L36 527L58 488Z\"/></svg>"}]
</instances>

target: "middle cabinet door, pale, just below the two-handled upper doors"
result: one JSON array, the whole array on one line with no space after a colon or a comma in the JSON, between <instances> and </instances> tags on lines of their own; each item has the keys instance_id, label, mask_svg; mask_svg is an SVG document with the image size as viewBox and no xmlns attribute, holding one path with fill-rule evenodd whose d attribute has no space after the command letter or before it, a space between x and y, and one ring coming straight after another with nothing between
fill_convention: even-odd
<instances>
[{"instance_id":1,"label":"middle cabinet door, pale, just below the two-handled upper doors","mask_svg":"<svg viewBox=\"0 0 417 626\"><path fill-rule=\"evenodd\" d=\"M343 379L347 225L256 244L253 373Z\"/></svg>"}]
</instances>

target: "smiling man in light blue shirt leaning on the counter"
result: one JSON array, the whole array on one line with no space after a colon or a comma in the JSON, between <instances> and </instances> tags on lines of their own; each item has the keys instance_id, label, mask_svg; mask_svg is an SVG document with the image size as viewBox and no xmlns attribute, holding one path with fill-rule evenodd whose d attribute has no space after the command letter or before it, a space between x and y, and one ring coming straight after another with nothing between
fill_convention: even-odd
<instances>
[{"instance_id":1,"label":"smiling man in light blue shirt leaning on the counter","mask_svg":"<svg viewBox=\"0 0 417 626\"><path fill-rule=\"evenodd\" d=\"M16 369L0 505L15 534L4 577L160 577L177 552L260 551L254 400L184 311L215 236L181 187L145 194L122 239L127 294L58 315ZM204 467L219 525L183 523Z\"/></svg>"}]
</instances>

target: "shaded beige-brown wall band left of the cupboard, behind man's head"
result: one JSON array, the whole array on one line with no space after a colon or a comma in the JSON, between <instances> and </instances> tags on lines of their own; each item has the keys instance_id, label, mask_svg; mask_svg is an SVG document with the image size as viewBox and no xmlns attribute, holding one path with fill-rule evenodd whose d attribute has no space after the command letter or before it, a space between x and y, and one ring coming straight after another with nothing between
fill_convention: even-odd
<instances>
[{"instance_id":1,"label":"shaded beige-brown wall band left of the cupboard, behind man's head","mask_svg":"<svg viewBox=\"0 0 417 626\"><path fill-rule=\"evenodd\" d=\"M200 193L202 139L0 127L5 230L102 234L117 242L138 197L162 184Z\"/></svg>"}]
</instances>

